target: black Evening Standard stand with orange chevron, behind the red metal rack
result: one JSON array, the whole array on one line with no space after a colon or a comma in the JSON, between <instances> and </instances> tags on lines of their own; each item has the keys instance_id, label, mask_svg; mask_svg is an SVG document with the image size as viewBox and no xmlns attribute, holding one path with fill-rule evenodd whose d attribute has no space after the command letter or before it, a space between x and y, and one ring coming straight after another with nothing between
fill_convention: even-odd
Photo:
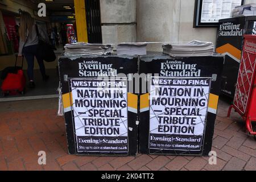
<instances>
[{"instance_id":1,"label":"black Evening Standard stand with orange chevron, behind the red metal rack","mask_svg":"<svg viewBox=\"0 0 256 182\"><path fill-rule=\"evenodd\" d=\"M221 79L221 92L233 98L243 47L243 35L256 34L256 16L238 16L220 19L216 52L225 55Z\"/></svg>"}]
</instances>

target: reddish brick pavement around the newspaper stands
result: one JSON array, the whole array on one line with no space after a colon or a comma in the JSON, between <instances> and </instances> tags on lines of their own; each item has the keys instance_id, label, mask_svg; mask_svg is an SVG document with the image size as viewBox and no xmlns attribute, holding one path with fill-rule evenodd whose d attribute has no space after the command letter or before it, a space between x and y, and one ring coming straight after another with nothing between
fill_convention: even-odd
<instances>
[{"instance_id":1,"label":"reddish brick pavement around the newspaper stands","mask_svg":"<svg viewBox=\"0 0 256 182\"><path fill-rule=\"evenodd\" d=\"M256 141L246 134L245 123L221 98L209 157L142 155L68 155L63 117L58 117L57 99L0 102L0 171L2 170L106 170L106 171L212 171L256 170ZM46 152L46 164L39 165L38 152Z\"/></svg>"}]
</instances>

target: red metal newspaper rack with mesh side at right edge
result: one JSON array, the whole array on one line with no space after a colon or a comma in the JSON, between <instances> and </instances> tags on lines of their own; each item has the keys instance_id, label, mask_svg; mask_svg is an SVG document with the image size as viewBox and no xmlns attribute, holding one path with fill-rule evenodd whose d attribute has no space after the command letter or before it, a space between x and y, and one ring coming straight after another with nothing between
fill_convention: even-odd
<instances>
[{"instance_id":1,"label":"red metal newspaper rack with mesh side at right edge","mask_svg":"<svg viewBox=\"0 0 256 182\"><path fill-rule=\"evenodd\" d=\"M245 120L247 131L256 138L256 36L244 35L244 38L236 93L233 105L229 107L228 117L234 108Z\"/></svg>"}]
</instances>

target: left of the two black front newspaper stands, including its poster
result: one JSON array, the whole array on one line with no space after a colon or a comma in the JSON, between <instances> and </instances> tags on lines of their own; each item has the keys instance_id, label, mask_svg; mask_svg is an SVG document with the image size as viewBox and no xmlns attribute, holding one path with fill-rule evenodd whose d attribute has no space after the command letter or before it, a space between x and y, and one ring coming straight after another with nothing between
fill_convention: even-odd
<instances>
[{"instance_id":1,"label":"left of the two black front newspaper stands, including its poster","mask_svg":"<svg viewBox=\"0 0 256 182\"><path fill-rule=\"evenodd\" d=\"M138 73L138 56L59 57L69 154L137 154L138 96L128 92L129 73Z\"/></svg>"}]
</instances>

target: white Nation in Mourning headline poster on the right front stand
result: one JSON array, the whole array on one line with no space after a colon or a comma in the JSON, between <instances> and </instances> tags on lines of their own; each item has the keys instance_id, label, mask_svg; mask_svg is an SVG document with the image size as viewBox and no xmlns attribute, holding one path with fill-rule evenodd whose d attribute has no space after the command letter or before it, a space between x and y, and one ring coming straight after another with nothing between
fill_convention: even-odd
<instances>
[{"instance_id":1,"label":"white Nation in Mourning headline poster on the right front stand","mask_svg":"<svg viewBox=\"0 0 256 182\"><path fill-rule=\"evenodd\" d=\"M149 148L200 151L210 78L152 77Z\"/></svg>"}]
</instances>

